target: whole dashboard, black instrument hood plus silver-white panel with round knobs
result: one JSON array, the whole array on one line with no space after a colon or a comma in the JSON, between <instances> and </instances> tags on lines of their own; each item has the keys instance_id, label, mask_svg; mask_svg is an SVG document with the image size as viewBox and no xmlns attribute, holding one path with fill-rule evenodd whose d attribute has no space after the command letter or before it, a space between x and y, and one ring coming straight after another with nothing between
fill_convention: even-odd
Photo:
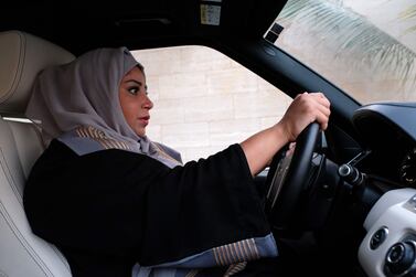
<instances>
[{"instance_id":1,"label":"whole dashboard, black instrument hood plus silver-white panel with round knobs","mask_svg":"<svg viewBox=\"0 0 416 277\"><path fill-rule=\"evenodd\" d=\"M416 276L416 103L363 106L352 118L367 156L360 171L388 183L364 221L359 262L370 277Z\"/></svg>"}]
</instances>

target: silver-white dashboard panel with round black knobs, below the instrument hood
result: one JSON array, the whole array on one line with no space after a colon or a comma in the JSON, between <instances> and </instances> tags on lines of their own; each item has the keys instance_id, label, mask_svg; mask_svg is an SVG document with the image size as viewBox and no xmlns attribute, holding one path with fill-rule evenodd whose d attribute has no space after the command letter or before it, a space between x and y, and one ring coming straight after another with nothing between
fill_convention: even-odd
<instances>
[{"instance_id":1,"label":"silver-white dashboard panel with round black knobs, below the instrument hood","mask_svg":"<svg viewBox=\"0 0 416 277\"><path fill-rule=\"evenodd\" d=\"M386 192L369 213L364 228L359 260L367 276L415 276L415 189Z\"/></svg>"}]
</instances>

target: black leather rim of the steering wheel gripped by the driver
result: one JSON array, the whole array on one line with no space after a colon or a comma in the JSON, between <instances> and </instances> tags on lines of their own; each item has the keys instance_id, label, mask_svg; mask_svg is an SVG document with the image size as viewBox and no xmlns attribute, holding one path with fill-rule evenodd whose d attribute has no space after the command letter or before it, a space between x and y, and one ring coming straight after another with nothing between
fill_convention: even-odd
<instances>
[{"instance_id":1,"label":"black leather rim of the steering wheel gripped by the driver","mask_svg":"<svg viewBox=\"0 0 416 277\"><path fill-rule=\"evenodd\" d=\"M319 125L312 122L299 134L296 140L296 148L288 172L279 195L277 195L275 205L270 206L268 214L270 224L275 230L290 230L294 223L297 222L296 211L299 207L301 194L308 184L307 177L311 169L311 160L318 142L318 135ZM267 178L267 180L271 180L275 173L270 171L269 174L271 174L271 178Z\"/></svg>"}]
</instances>

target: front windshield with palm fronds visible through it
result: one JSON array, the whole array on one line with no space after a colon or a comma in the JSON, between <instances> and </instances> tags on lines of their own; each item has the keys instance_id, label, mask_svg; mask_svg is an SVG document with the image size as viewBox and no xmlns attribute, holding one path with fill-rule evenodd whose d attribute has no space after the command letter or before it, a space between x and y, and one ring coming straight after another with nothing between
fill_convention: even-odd
<instances>
[{"instance_id":1,"label":"front windshield with palm fronds visible through it","mask_svg":"<svg viewBox=\"0 0 416 277\"><path fill-rule=\"evenodd\" d=\"M275 44L361 104L416 100L415 0L289 0Z\"/></svg>"}]
</instances>

